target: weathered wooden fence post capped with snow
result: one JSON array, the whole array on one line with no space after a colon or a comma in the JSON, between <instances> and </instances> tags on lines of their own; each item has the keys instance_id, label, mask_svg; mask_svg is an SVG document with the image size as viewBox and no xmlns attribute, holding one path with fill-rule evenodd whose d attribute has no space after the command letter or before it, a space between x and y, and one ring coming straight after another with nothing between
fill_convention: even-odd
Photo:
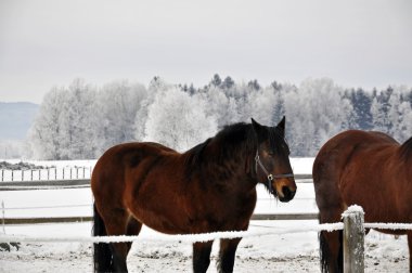
<instances>
[{"instance_id":1,"label":"weathered wooden fence post capped with snow","mask_svg":"<svg viewBox=\"0 0 412 273\"><path fill-rule=\"evenodd\" d=\"M344 218L344 272L364 272L364 212L362 207L350 206Z\"/></svg>"}]
</instances>

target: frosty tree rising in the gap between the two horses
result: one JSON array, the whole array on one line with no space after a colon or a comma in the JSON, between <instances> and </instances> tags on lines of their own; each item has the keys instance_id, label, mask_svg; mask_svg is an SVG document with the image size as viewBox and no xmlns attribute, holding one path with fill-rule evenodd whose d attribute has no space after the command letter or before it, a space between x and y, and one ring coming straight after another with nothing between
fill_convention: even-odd
<instances>
[{"instance_id":1,"label":"frosty tree rising in the gap between the two horses","mask_svg":"<svg viewBox=\"0 0 412 273\"><path fill-rule=\"evenodd\" d=\"M329 78L307 79L284 99L288 140L298 156L314 156L325 141L346 128L352 112L343 89Z\"/></svg>"}]
</instances>

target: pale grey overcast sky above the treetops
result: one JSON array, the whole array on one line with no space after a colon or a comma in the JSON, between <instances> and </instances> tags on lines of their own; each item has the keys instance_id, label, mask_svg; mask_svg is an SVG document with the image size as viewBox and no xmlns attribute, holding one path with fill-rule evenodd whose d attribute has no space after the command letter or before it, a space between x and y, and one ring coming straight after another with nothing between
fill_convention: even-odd
<instances>
[{"instance_id":1,"label":"pale grey overcast sky above the treetops","mask_svg":"<svg viewBox=\"0 0 412 273\"><path fill-rule=\"evenodd\" d=\"M77 77L412 86L410 0L0 0L0 101Z\"/></svg>"}]
</instances>

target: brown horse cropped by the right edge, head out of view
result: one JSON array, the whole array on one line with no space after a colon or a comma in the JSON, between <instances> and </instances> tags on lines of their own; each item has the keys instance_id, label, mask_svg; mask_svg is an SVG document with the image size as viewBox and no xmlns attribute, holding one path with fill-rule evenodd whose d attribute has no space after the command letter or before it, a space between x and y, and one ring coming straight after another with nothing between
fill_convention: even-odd
<instances>
[{"instance_id":1,"label":"brown horse cropped by the right edge, head out of view","mask_svg":"<svg viewBox=\"0 0 412 273\"><path fill-rule=\"evenodd\" d=\"M343 132L320 150L313 184L321 223L340 221L350 205L363 207L365 222L411 223L412 138L400 145L381 132ZM412 231L381 232L408 234L411 253ZM342 272L342 231L321 232L320 252L322 272Z\"/></svg>"}]
</instances>

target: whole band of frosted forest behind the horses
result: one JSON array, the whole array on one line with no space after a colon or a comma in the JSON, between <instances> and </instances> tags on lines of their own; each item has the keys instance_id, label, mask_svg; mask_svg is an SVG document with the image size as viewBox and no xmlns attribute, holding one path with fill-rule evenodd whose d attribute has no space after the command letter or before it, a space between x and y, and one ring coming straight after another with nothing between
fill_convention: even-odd
<instances>
[{"instance_id":1,"label":"whole band of frosted forest behind the horses","mask_svg":"<svg viewBox=\"0 0 412 273\"><path fill-rule=\"evenodd\" d=\"M383 131L403 142L412 136L412 89L348 89L330 78L262 87L217 74L201 88L160 77L147 87L128 80L96 87L75 79L44 95L25 151L33 159L92 159L118 143L154 141L184 152L226 125L254 118L274 126L283 116L295 157L316 156L347 129Z\"/></svg>"}]
</instances>

